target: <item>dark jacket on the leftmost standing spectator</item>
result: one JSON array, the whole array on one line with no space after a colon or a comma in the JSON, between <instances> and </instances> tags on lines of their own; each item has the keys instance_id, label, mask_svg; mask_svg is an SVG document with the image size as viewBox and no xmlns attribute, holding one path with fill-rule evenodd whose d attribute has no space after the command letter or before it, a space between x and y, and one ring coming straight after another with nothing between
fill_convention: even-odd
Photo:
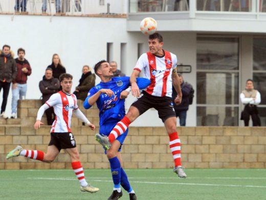
<instances>
[{"instance_id":1,"label":"dark jacket on the leftmost standing spectator","mask_svg":"<svg viewBox=\"0 0 266 200\"><path fill-rule=\"evenodd\" d=\"M5 80L10 83L16 79L17 67L13 57L14 53L12 51L6 56L0 50L0 81L2 82Z\"/></svg>"}]
</instances>

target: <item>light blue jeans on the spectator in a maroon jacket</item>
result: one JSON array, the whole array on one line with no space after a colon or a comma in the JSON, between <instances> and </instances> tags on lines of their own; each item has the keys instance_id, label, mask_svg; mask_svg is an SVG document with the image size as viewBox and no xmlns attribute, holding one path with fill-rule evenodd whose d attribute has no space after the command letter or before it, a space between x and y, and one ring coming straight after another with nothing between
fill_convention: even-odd
<instances>
[{"instance_id":1,"label":"light blue jeans on the spectator in a maroon jacket","mask_svg":"<svg viewBox=\"0 0 266 200\"><path fill-rule=\"evenodd\" d=\"M16 113L18 99L23 99L23 96L25 98L27 92L27 84L17 83L16 85L17 87L15 89L12 89L12 104L11 104L12 113Z\"/></svg>"}]
</instances>

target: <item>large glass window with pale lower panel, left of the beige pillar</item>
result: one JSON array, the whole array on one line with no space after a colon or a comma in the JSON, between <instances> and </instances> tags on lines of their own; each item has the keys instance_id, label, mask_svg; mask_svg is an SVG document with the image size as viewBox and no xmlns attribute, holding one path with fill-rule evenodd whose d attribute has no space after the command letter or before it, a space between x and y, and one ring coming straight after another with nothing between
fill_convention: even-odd
<instances>
[{"instance_id":1,"label":"large glass window with pale lower panel, left of the beige pillar","mask_svg":"<svg viewBox=\"0 0 266 200\"><path fill-rule=\"evenodd\" d=\"M238 126L237 37L197 37L197 126Z\"/></svg>"}]
</instances>

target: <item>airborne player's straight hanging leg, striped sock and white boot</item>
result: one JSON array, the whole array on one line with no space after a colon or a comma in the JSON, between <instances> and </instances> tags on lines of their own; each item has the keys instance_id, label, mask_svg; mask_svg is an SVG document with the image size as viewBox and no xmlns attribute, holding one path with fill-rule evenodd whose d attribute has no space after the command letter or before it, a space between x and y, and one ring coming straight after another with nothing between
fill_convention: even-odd
<instances>
[{"instance_id":1,"label":"airborne player's straight hanging leg, striped sock and white boot","mask_svg":"<svg viewBox=\"0 0 266 200\"><path fill-rule=\"evenodd\" d=\"M169 147L174 159L174 172L179 177L185 178L187 175L181 164L181 143L176 130L176 117L167 118L164 125L169 136Z\"/></svg>"}]
</instances>

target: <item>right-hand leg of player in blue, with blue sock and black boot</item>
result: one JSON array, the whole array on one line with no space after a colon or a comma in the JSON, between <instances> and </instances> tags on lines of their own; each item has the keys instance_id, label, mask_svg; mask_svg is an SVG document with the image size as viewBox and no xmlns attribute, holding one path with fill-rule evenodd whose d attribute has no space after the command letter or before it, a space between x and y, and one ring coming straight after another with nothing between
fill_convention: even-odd
<instances>
[{"instance_id":1,"label":"right-hand leg of player in blue, with blue sock and black boot","mask_svg":"<svg viewBox=\"0 0 266 200\"><path fill-rule=\"evenodd\" d=\"M119 162L121 164L121 177L120 177L121 186L128 192L129 199L135 200L135 199L137 199L137 196L135 194L135 191L131 188L129 181L128 181L128 178L127 178L127 175L126 175L126 172L123 169L123 161L122 161L122 155L121 155L120 151L117 153L117 157L118 157Z\"/></svg>"}]
</instances>

